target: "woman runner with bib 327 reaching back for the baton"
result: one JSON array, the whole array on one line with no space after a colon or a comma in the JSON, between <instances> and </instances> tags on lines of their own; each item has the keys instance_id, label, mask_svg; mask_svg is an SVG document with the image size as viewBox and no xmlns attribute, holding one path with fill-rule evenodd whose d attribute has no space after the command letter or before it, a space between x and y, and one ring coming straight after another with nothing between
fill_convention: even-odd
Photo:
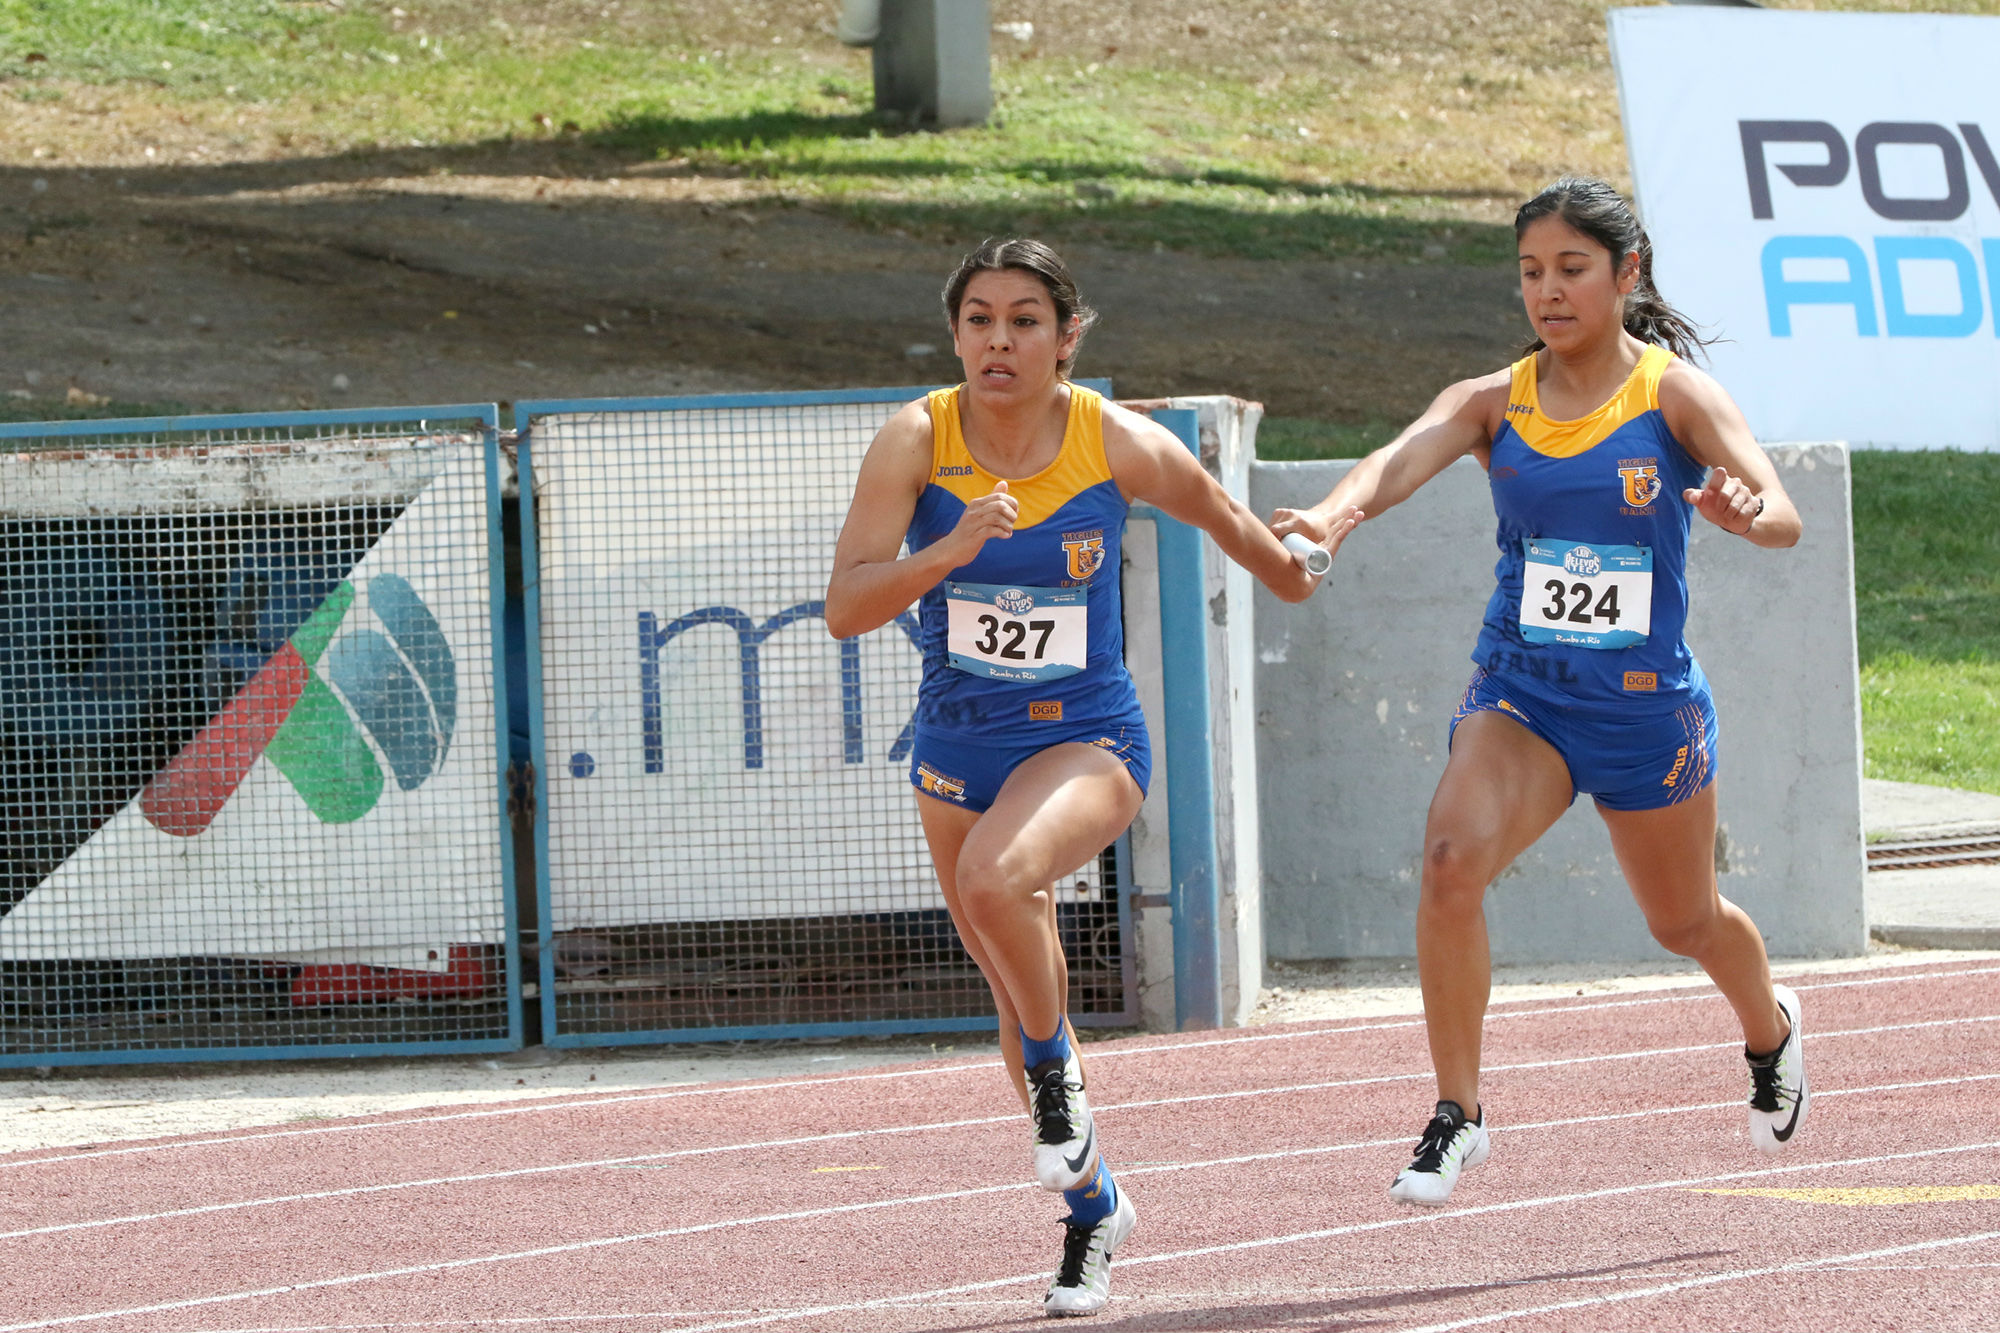
<instances>
[{"instance_id":1,"label":"woman runner with bib 327 reaching back for the baton","mask_svg":"<svg viewBox=\"0 0 2000 1333\"><path fill-rule=\"evenodd\" d=\"M1206 530L1284 600L1318 580L1180 440L1070 384L1096 316L1054 250L984 242L944 308L966 382L904 406L868 446L826 628L862 634L918 602L910 785L952 923L1000 1009L1036 1179L1070 1205L1042 1309L1088 1315L1134 1213L1098 1151L1064 1017L1054 889L1124 833L1152 773L1118 608L1126 506ZM1328 540L1352 526L1330 524Z\"/></svg>"}]
</instances>

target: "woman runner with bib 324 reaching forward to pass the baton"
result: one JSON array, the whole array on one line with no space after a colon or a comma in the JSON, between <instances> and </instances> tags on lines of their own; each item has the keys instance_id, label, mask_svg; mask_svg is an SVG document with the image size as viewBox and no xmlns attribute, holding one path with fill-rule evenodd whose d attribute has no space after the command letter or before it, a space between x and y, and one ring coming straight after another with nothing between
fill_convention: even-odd
<instances>
[{"instance_id":1,"label":"woman runner with bib 324 reaching forward to pass the baton","mask_svg":"<svg viewBox=\"0 0 2000 1333\"><path fill-rule=\"evenodd\" d=\"M1758 546L1800 520L1730 396L1688 364L1700 338L1652 284L1652 242L1602 180L1564 178L1514 216L1530 354L1452 384L1278 534L1322 540L1462 456L1492 482L1500 560L1476 671L1424 829L1416 957L1438 1105L1402 1203L1444 1203L1486 1161L1480 1029L1492 991L1486 885L1584 791L1646 925L1736 1011L1750 1139L1782 1149L1810 1091L1798 997L1716 889L1716 713L1682 640L1694 514Z\"/></svg>"}]
</instances>

